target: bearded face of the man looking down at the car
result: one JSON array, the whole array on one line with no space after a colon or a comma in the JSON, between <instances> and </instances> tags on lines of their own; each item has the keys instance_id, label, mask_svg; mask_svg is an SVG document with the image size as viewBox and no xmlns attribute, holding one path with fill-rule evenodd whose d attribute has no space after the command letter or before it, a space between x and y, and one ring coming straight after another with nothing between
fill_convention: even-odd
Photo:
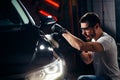
<instances>
[{"instance_id":1,"label":"bearded face of the man looking down at the car","mask_svg":"<svg viewBox=\"0 0 120 80\"><path fill-rule=\"evenodd\" d=\"M95 29L88 27L88 23L81 23L82 34L86 37L87 41L91 41L96 36Z\"/></svg>"}]
</instances>

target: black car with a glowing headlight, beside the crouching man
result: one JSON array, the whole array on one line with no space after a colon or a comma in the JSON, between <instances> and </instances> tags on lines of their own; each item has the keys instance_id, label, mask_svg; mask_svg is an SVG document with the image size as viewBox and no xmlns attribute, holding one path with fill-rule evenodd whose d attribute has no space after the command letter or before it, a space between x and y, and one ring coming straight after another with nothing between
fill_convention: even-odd
<instances>
[{"instance_id":1,"label":"black car with a glowing headlight, beside the crouching man","mask_svg":"<svg viewBox=\"0 0 120 80\"><path fill-rule=\"evenodd\" d=\"M0 0L0 80L63 80L64 60L20 0Z\"/></svg>"}]
</instances>

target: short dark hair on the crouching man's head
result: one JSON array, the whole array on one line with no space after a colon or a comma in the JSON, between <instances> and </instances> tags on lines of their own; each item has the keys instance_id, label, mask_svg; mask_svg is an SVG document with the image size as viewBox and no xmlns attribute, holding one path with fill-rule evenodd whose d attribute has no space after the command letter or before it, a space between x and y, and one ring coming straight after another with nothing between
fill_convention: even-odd
<instances>
[{"instance_id":1,"label":"short dark hair on the crouching man's head","mask_svg":"<svg viewBox=\"0 0 120 80\"><path fill-rule=\"evenodd\" d=\"M100 24L100 19L99 16L94 13L94 12L87 12L86 14L84 14L79 23L84 23L87 22L89 27L94 27L97 23Z\"/></svg>"}]
</instances>

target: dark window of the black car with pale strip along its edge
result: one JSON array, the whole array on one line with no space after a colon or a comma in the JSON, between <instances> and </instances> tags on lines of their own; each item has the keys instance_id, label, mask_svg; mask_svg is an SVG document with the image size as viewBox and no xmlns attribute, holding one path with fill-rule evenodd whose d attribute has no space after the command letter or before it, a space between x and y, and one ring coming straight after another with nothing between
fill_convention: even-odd
<instances>
[{"instance_id":1,"label":"dark window of the black car with pale strip along its edge","mask_svg":"<svg viewBox=\"0 0 120 80\"><path fill-rule=\"evenodd\" d=\"M11 4L12 3L12 4ZM19 9L19 10L18 10ZM0 26L27 24L28 19L16 0L0 1ZM18 12L19 11L19 12ZM20 13L21 12L21 13ZM20 14L19 14L20 13ZM22 18L24 17L24 19Z\"/></svg>"}]
</instances>

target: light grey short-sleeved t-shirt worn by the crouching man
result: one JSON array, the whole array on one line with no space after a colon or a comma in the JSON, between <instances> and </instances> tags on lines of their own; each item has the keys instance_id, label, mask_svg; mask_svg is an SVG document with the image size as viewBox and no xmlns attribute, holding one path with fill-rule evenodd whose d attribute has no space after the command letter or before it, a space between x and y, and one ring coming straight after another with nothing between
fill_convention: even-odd
<instances>
[{"instance_id":1,"label":"light grey short-sleeved t-shirt worn by the crouching man","mask_svg":"<svg viewBox=\"0 0 120 80\"><path fill-rule=\"evenodd\" d=\"M95 40L92 39L92 42ZM102 44L104 51L93 52L95 74L109 76L112 80L120 80L115 40L104 32L97 42Z\"/></svg>"}]
</instances>

